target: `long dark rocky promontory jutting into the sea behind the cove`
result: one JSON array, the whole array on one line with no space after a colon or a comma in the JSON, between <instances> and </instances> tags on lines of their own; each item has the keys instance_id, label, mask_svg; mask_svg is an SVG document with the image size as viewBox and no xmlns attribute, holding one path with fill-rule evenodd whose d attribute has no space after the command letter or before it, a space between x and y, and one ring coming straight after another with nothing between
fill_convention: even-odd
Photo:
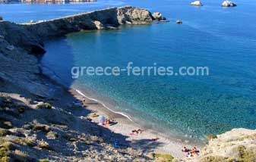
<instances>
[{"instance_id":1,"label":"long dark rocky promontory jutting into the sea behind the cove","mask_svg":"<svg viewBox=\"0 0 256 162\"><path fill-rule=\"evenodd\" d=\"M2 21L0 36L4 36L11 45L24 48L33 54L41 54L45 52L43 40L52 37L81 30L115 29L121 24L150 24L154 19L165 19L160 13L154 14L154 17L150 11L131 6L106 8L36 23Z\"/></svg>"}]
</instances>

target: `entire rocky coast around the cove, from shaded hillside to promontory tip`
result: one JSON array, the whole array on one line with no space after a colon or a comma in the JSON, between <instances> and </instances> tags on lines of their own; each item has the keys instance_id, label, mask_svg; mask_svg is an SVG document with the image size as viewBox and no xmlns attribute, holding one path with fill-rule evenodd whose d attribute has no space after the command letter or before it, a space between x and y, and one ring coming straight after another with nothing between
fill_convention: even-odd
<instances>
[{"instance_id":1,"label":"entire rocky coast around the cove, from shaded hillside to promontory tip","mask_svg":"<svg viewBox=\"0 0 256 162\"><path fill-rule=\"evenodd\" d=\"M91 122L87 107L69 89L43 75L43 42L82 30L113 30L122 24L166 20L160 13L126 6L35 23L0 21L0 161L254 161L255 130L210 136L201 156L173 158L163 145ZM181 152L182 148L171 145ZM166 148L167 149L167 148ZM181 153L183 154L183 153Z\"/></svg>"}]
</instances>

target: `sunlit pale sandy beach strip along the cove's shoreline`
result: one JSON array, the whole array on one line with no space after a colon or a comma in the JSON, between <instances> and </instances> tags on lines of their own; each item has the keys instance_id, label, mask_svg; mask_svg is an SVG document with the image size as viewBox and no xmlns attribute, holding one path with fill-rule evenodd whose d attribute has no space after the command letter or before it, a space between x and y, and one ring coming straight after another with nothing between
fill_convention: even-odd
<instances>
[{"instance_id":1,"label":"sunlit pale sandy beach strip along the cove's shoreline","mask_svg":"<svg viewBox=\"0 0 256 162\"><path fill-rule=\"evenodd\" d=\"M92 117L93 114L98 114L100 116L104 116L109 120L115 120L117 124L112 126L104 126L110 129L112 132L120 133L123 136L127 136L127 140L131 141L133 147L144 148L145 152L149 154L150 152L159 153L159 154L172 154L173 157L176 158L186 158L186 154L182 152L182 148L186 146L187 148L193 148L195 145L199 150L202 148L201 145L196 143L188 142L182 139L176 139L171 136L166 136L160 132L156 132L153 129L145 129L141 127L139 124L128 120L127 117L122 114L116 114L113 111L110 111L103 104L100 104L96 101L91 100L91 98L87 98L86 95L81 94L80 91L76 89L70 90L71 94L74 95L74 98L77 100L84 102L84 107L90 110L92 113L87 117L81 118L90 118L92 122L97 122L97 117ZM137 135L132 135L131 131L134 129L142 129L143 132ZM154 141L152 139L157 139L157 145L154 145ZM140 143L136 141L145 140L145 142ZM148 150L147 150L148 149Z\"/></svg>"}]
</instances>

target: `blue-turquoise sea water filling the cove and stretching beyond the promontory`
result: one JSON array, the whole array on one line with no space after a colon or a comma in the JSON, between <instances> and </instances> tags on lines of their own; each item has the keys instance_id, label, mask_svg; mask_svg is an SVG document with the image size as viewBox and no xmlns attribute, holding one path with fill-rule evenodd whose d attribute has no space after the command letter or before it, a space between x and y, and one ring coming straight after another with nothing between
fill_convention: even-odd
<instances>
[{"instance_id":1,"label":"blue-turquoise sea water filling the cove and stretching beyond the promontory","mask_svg":"<svg viewBox=\"0 0 256 162\"><path fill-rule=\"evenodd\" d=\"M115 111L160 132L193 139L235 127L256 129L256 15L254 1L99 1L68 5L0 5L8 20L24 22L135 5L160 11L170 23L122 26L122 30L71 33L46 42L43 66L66 86L85 90ZM17 17L11 8L24 14ZM18 9L17 9L18 8ZM43 14L40 11L46 10ZM30 12L28 12L30 11ZM10 14L11 13L11 14ZM20 15L20 14L19 14ZM175 24L181 19L182 25ZM210 76L83 76L73 66L207 66Z\"/></svg>"}]
</instances>

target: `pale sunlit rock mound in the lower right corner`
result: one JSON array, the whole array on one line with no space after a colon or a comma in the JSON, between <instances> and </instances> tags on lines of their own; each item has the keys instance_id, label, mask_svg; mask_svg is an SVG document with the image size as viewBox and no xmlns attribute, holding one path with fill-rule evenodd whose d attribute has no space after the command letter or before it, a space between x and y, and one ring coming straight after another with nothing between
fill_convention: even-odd
<instances>
[{"instance_id":1,"label":"pale sunlit rock mound in the lower right corner","mask_svg":"<svg viewBox=\"0 0 256 162\"><path fill-rule=\"evenodd\" d=\"M255 161L256 130L232 129L214 139L202 149L199 161Z\"/></svg>"}]
</instances>

